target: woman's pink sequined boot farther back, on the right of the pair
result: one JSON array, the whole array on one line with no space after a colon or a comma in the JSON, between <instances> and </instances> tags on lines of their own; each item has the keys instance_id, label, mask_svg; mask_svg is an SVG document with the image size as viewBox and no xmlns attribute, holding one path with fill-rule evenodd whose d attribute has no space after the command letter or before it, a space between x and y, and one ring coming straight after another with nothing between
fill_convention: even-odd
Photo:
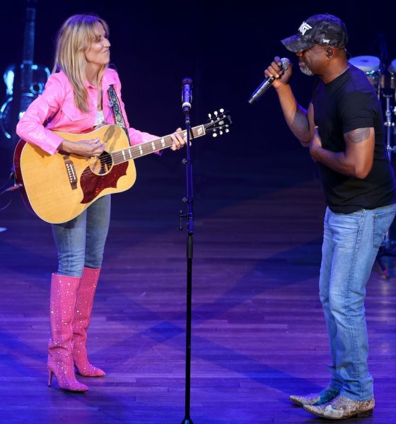
<instances>
[{"instance_id":1,"label":"woman's pink sequined boot farther back, on the right of the pair","mask_svg":"<svg viewBox=\"0 0 396 424\"><path fill-rule=\"evenodd\" d=\"M83 276L77 291L76 310L73 324L73 358L77 372L85 377L103 377L106 373L94 367L88 361L86 339L91 321L93 298L100 275L100 268L84 268Z\"/></svg>"}]
</instances>

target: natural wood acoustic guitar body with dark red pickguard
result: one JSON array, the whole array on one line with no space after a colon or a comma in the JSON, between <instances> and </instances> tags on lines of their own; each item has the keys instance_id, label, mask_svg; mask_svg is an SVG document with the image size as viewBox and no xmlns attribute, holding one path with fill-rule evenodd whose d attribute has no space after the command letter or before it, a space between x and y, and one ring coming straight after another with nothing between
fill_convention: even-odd
<instances>
[{"instance_id":1,"label":"natural wood acoustic guitar body with dark red pickguard","mask_svg":"<svg viewBox=\"0 0 396 424\"><path fill-rule=\"evenodd\" d=\"M133 160L113 164L111 153L129 147L125 130L105 125L86 134L55 131L63 139L81 141L100 139L105 151L100 158L59 152L54 155L19 141L14 155L16 181L25 204L48 223L67 222L106 194L124 192L136 181Z\"/></svg>"}]
</instances>

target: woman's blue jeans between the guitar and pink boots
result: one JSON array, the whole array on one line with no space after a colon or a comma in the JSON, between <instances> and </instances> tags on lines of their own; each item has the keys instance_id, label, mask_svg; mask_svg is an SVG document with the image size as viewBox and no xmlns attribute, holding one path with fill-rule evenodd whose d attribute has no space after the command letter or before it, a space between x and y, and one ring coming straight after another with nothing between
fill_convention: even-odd
<instances>
[{"instance_id":1,"label":"woman's blue jeans between the guitar and pink boots","mask_svg":"<svg viewBox=\"0 0 396 424\"><path fill-rule=\"evenodd\" d=\"M80 277L83 268L100 268L110 224L111 196L94 201L76 218L52 224L58 249L58 273Z\"/></svg>"}]
</instances>

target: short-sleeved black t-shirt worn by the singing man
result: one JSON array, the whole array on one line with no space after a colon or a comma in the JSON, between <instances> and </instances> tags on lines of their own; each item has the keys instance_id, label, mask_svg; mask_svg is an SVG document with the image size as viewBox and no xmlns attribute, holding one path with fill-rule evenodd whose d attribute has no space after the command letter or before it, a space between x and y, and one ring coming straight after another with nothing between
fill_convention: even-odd
<instances>
[{"instance_id":1,"label":"short-sleeved black t-shirt worn by the singing man","mask_svg":"<svg viewBox=\"0 0 396 424\"><path fill-rule=\"evenodd\" d=\"M383 114L365 73L353 65L328 84L318 81L313 90L314 121L322 147L345 151L344 133L373 127L373 169L365 179L348 177L319 164L327 205L335 213L352 213L396 203L395 177L385 146Z\"/></svg>"}]
</instances>

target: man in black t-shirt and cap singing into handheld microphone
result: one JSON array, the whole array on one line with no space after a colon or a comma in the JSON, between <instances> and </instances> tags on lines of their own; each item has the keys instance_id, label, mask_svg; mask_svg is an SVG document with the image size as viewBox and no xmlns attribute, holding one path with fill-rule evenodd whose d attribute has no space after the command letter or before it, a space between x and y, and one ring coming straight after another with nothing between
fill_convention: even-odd
<instances>
[{"instance_id":1,"label":"man in black t-shirt and cap singing into handheld microphone","mask_svg":"<svg viewBox=\"0 0 396 424\"><path fill-rule=\"evenodd\" d=\"M287 124L320 167L327 201L320 300L330 341L330 382L319 393L291 396L306 411L330 419L368 416L374 408L364 315L366 283L396 213L395 177L383 119L366 75L347 61L347 29L339 18L315 15L282 40L303 73L318 76L308 110L298 105L275 57L274 77Z\"/></svg>"}]
</instances>

